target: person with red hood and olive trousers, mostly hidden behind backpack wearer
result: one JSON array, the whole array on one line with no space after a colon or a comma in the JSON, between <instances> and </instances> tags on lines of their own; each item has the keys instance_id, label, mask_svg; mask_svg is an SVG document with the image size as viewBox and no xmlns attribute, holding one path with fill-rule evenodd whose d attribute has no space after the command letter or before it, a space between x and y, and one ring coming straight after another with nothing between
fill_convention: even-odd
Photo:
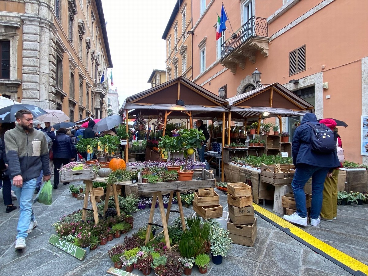
<instances>
[{"instance_id":1,"label":"person with red hood and olive trousers, mostly hidden behind backpack wearer","mask_svg":"<svg viewBox=\"0 0 368 276\"><path fill-rule=\"evenodd\" d=\"M337 132L335 120L322 119L319 122L328 126L332 131ZM339 147L342 148L342 142L339 136L337 136L337 142ZM341 163L340 167L342 167ZM339 177L340 167L333 170L332 173L329 173L323 184L322 209L319 218L329 222L332 222L337 217L337 178Z\"/></svg>"}]
</instances>

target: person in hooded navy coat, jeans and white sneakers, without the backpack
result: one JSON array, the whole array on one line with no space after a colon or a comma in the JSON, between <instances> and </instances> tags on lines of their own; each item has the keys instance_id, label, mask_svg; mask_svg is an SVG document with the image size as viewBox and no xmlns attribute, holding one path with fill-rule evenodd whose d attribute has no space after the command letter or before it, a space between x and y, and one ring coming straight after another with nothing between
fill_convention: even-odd
<instances>
[{"instance_id":1,"label":"person in hooded navy coat, jeans and white sneakers, without the backpack","mask_svg":"<svg viewBox=\"0 0 368 276\"><path fill-rule=\"evenodd\" d=\"M309 122L313 125L318 123L315 114L305 114L300 126L294 132L291 149L296 171L291 187L294 192L297 212L285 215L284 219L294 224L307 225L304 186L312 177L311 225L317 226L320 222L318 216L322 208L323 183L326 176L332 174L333 169L340 166L340 162L336 151L331 153L312 151L310 146L312 127L307 124Z\"/></svg>"}]
</instances>

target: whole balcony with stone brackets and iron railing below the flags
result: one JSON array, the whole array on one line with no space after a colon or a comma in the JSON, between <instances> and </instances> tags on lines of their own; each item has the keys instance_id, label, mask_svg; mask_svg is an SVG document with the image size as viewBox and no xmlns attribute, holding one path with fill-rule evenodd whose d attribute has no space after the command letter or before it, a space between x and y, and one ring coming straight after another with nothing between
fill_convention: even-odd
<instances>
[{"instance_id":1,"label":"whole balcony with stone brackets and iron railing below the flags","mask_svg":"<svg viewBox=\"0 0 368 276\"><path fill-rule=\"evenodd\" d=\"M257 51L260 50L264 57L268 56L268 40L267 19L251 17L221 45L220 63L236 74L237 64L244 69L247 59L255 63Z\"/></svg>"}]
</instances>

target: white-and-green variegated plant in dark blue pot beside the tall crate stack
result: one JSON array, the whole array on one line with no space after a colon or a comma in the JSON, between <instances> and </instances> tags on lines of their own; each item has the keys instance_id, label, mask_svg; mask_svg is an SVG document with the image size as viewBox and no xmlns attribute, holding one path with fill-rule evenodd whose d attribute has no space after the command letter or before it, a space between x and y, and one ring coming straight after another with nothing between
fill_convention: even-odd
<instances>
[{"instance_id":1,"label":"white-and-green variegated plant in dark blue pot beside the tall crate stack","mask_svg":"<svg viewBox=\"0 0 368 276\"><path fill-rule=\"evenodd\" d=\"M215 265L222 263L222 257L227 255L232 240L229 238L230 232L222 227L213 227L210 236L210 250L212 254L212 262Z\"/></svg>"}]
</instances>

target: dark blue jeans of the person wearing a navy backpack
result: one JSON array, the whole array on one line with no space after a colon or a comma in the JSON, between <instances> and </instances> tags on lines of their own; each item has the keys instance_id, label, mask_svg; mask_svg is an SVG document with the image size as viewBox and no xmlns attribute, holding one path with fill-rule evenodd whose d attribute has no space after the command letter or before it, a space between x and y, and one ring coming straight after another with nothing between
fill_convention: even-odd
<instances>
[{"instance_id":1,"label":"dark blue jeans of the person wearing a navy backpack","mask_svg":"<svg viewBox=\"0 0 368 276\"><path fill-rule=\"evenodd\" d=\"M291 187L293 188L297 213L301 217L307 217L304 186L312 177L312 206L311 218L318 219L322 208L323 183L330 168L317 167L308 164L298 164Z\"/></svg>"}]
</instances>

